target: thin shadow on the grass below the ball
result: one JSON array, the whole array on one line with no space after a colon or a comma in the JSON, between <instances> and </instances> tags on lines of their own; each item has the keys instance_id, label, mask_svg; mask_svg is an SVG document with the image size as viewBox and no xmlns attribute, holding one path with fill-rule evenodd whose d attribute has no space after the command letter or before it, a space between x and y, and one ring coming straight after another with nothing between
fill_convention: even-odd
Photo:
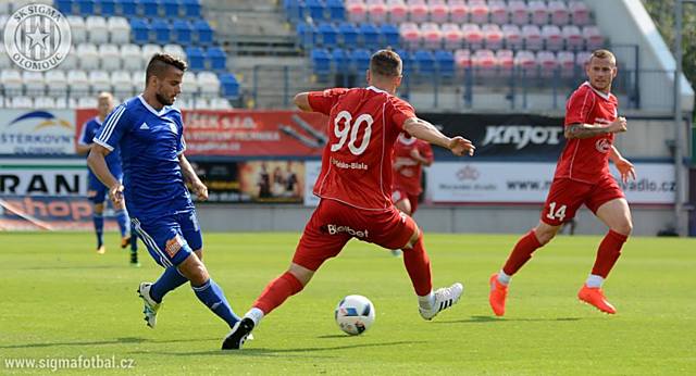
<instances>
[{"instance_id":1,"label":"thin shadow on the grass below the ball","mask_svg":"<svg viewBox=\"0 0 696 376\"><path fill-rule=\"evenodd\" d=\"M355 337L346 337L346 336L337 336L344 338L355 338ZM332 347L311 347L311 348L296 348L296 349L247 349L244 350L214 350L214 351L198 351L198 352L158 352L151 351L148 352L150 354L160 354L160 355L176 355L176 356L200 356L200 355L221 355L221 356L296 356L296 358L316 358L315 352L321 351L334 351L334 350L348 350L348 349L368 349L368 348L378 348L378 347L387 347L387 346L399 346L399 344L414 344L414 343L424 343L426 341L394 341L394 342L381 342L381 343L355 343L355 344L344 344L344 346L332 346ZM304 354L311 353L311 354ZM324 356L324 358L338 358L338 356Z\"/></svg>"}]
</instances>

